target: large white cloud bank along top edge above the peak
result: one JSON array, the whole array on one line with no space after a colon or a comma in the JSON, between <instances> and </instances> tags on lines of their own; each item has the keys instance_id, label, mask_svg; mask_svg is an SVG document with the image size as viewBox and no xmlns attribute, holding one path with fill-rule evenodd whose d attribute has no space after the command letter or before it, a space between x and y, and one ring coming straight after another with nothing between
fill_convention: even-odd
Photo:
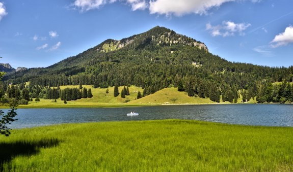
<instances>
[{"instance_id":1,"label":"large white cloud bank along top edge above the peak","mask_svg":"<svg viewBox=\"0 0 293 172\"><path fill-rule=\"evenodd\" d=\"M116 1L118 0L74 0L72 6L85 12ZM190 13L202 15L224 3L243 1L258 3L261 0L119 0L118 2L126 2L131 6L132 11L149 9L150 14L182 16Z\"/></svg>"}]
</instances>

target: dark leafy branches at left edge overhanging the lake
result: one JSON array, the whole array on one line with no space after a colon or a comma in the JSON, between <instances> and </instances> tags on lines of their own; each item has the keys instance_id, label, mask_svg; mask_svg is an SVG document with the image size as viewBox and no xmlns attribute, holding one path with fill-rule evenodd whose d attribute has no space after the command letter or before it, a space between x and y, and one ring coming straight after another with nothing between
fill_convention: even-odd
<instances>
[{"instance_id":1,"label":"dark leafy branches at left edge overhanging the lake","mask_svg":"<svg viewBox=\"0 0 293 172\"><path fill-rule=\"evenodd\" d=\"M16 110L14 107L9 110L7 112L7 114L5 115L5 113L0 110L0 133L6 136L9 136L9 134L11 134L10 130L11 128L9 128L7 125L11 124L11 122L13 121L17 121L17 119L15 119L15 117L17 116ZM2 152L2 151L0 151ZM1 162L0 162L1 164ZM0 168L1 169L1 168Z\"/></svg>"}]
</instances>

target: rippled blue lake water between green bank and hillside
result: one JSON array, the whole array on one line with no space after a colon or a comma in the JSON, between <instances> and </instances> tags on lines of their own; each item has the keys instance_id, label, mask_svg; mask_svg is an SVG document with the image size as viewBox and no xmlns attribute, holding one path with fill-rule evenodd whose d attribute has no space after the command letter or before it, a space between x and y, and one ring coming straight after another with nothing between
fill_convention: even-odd
<instances>
[{"instance_id":1,"label":"rippled blue lake water between green bank and hillside","mask_svg":"<svg viewBox=\"0 0 293 172\"><path fill-rule=\"evenodd\" d=\"M5 110L7 111L7 110ZM130 112L139 116L126 116ZM12 128L60 123L194 119L229 124L293 126L293 105L180 105L125 108L18 109Z\"/></svg>"}]
</instances>

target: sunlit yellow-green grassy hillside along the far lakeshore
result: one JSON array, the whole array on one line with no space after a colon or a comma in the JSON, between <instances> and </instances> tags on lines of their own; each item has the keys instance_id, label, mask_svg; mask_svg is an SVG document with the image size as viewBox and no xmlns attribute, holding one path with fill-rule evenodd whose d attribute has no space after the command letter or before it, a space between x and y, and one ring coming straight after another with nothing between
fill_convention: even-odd
<instances>
[{"instance_id":1,"label":"sunlit yellow-green grassy hillside along the far lakeshore","mask_svg":"<svg viewBox=\"0 0 293 172\"><path fill-rule=\"evenodd\" d=\"M74 86L60 86L60 89L78 88ZM148 105L200 105L200 104L218 104L211 101L209 98L190 97L186 92L179 92L177 88L165 88L155 92L154 94L145 96L140 99L137 98L137 93L143 92L141 87L129 87L129 96L121 98L121 96L114 97L114 87L109 87L109 93L106 93L106 88L93 88L91 85L83 85L83 87L91 88L93 97L82 98L75 101L67 101L64 104L60 98L57 102L53 100L41 99L41 101L29 101L29 105L20 105L18 108L70 108L70 107L118 107L118 106L148 106ZM119 87L119 92L123 87ZM242 97L238 98L238 103L241 102ZM129 102L127 102L129 101ZM251 99L248 103L255 103L256 100ZM220 101L220 104L230 104L230 102Z\"/></svg>"}]
</instances>

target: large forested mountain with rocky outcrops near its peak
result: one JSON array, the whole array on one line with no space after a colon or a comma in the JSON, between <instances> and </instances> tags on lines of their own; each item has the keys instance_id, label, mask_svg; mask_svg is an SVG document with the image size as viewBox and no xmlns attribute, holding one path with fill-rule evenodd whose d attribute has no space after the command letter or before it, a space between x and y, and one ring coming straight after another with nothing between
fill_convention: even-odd
<instances>
[{"instance_id":1,"label":"large forested mountain with rocky outcrops near its peak","mask_svg":"<svg viewBox=\"0 0 293 172\"><path fill-rule=\"evenodd\" d=\"M137 85L144 95L169 86L190 96L233 102L257 96L259 102L292 101L293 67L268 67L229 62L208 51L204 43L156 26L122 40L106 40L76 56L45 68L30 68L3 78L4 85L30 86ZM275 82L283 84L273 84ZM283 87L290 89L285 93ZM291 91L292 90L292 91ZM276 93L276 94L275 94ZM38 95L35 95L38 96Z\"/></svg>"}]
</instances>

